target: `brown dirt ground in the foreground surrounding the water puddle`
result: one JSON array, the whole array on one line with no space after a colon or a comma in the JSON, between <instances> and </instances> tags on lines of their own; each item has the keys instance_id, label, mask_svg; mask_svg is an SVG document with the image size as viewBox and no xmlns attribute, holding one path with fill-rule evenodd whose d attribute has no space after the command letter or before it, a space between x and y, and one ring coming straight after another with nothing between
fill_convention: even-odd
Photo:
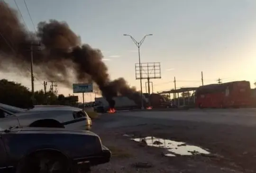
<instances>
[{"instance_id":1,"label":"brown dirt ground in the foreground surrounding the water puddle","mask_svg":"<svg viewBox=\"0 0 256 173\"><path fill-rule=\"evenodd\" d=\"M92 173L254 173L256 172L256 128L191 121L168 126L143 124L108 128L94 122L93 132L112 151L110 163L92 167ZM102 128L101 128L102 127ZM164 156L165 149L130 140L154 136L207 148L210 155Z\"/></svg>"}]
</instances>

